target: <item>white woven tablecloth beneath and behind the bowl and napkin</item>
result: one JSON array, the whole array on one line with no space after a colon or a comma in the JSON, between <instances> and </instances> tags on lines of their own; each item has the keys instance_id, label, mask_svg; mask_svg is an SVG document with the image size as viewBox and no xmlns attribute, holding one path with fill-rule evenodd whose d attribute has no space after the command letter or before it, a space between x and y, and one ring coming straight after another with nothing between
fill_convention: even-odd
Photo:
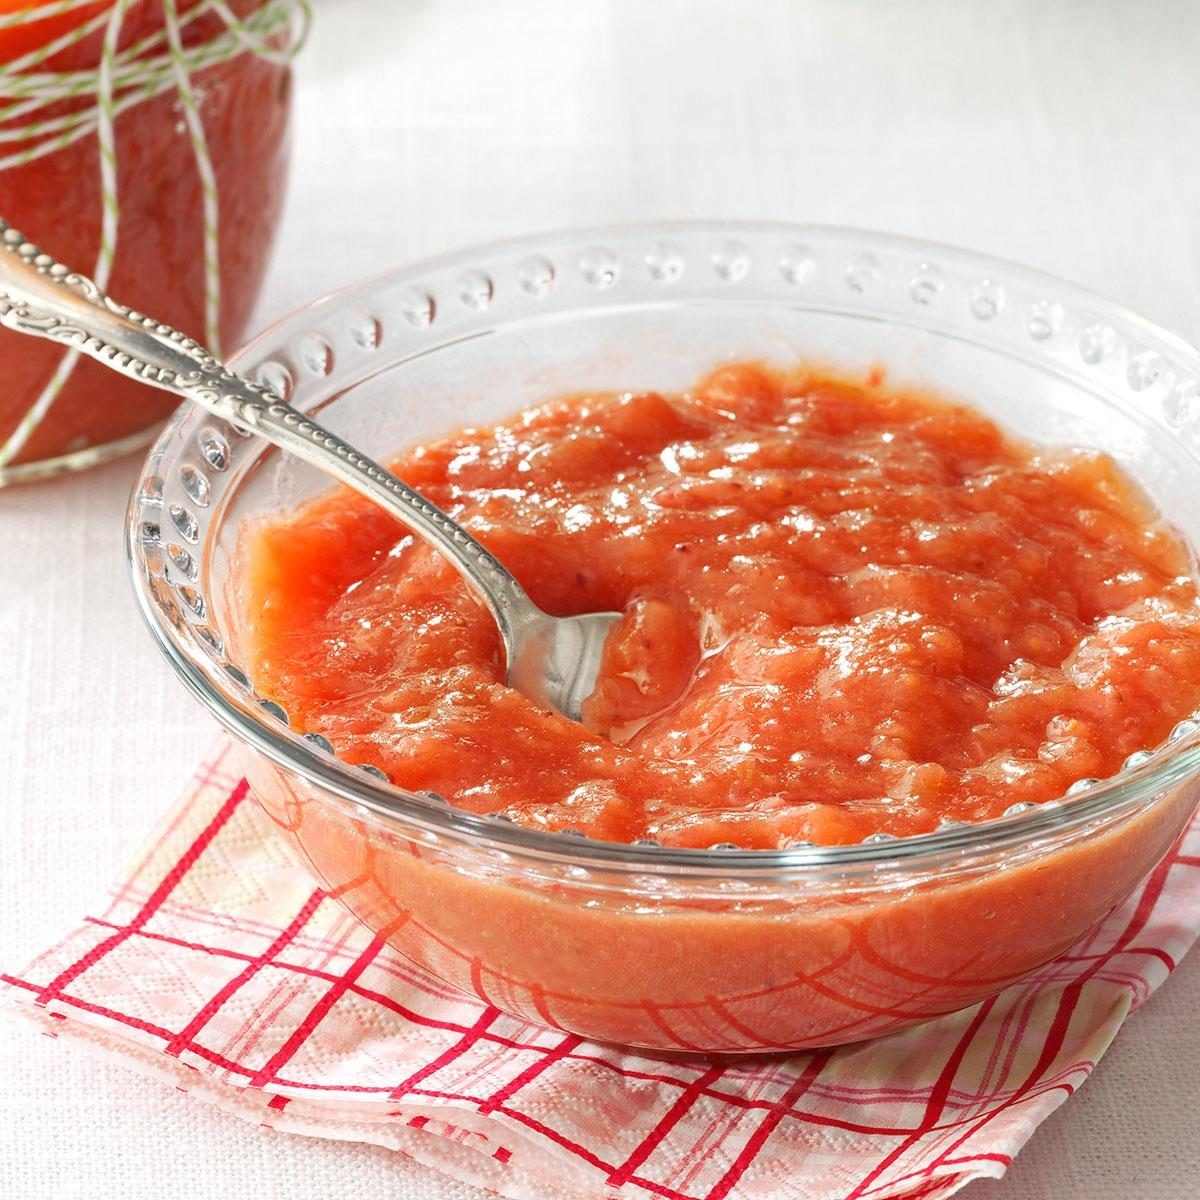
<instances>
[{"instance_id":1,"label":"white woven tablecloth beneath and behind the bowl and napkin","mask_svg":"<svg viewBox=\"0 0 1200 1200\"><path fill-rule=\"evenodd\" d=\"M1057 272L1200 337L1194 0L317 0L258 323L385 265L565 224L858 224ZM139 628L133 464L0 494L0 968L73 924L212 725ZM1200 956L970 1200L1193 1200ZM252 1129L0 1021L14 1200L478 1200Z\"/></svg>"}]
</instances>

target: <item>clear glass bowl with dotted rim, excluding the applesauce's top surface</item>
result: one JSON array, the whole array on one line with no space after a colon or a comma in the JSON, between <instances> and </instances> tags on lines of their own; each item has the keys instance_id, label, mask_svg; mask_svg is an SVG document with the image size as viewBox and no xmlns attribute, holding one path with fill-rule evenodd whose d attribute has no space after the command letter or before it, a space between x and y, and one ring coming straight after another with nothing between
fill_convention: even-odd
<instances>
[{"instance_id":1,"label":"clear glass bowl with dotted rim, excluding the applesauce's top surface","mask_svg":"<svg viewBox=\"0 0 1200 1200\"><path fill-rule=\"evenodd\" d=\"M1105 450L1200 544L1200 355L1069 284L926 242L778 224L512 241L349 287L236 365L388 457L557 394L680 389L745 358L883 365L1018 436ZM1200 725L1186 720L1062 800L854 846L618 846L452 810L340 762L238 666L239 524L326 486L181 409L131 504L138 601L323 886L412 961L516 1016L706 1054L886 1033L1061 954L1200 798Z\"/></svg>"}]
</instances>

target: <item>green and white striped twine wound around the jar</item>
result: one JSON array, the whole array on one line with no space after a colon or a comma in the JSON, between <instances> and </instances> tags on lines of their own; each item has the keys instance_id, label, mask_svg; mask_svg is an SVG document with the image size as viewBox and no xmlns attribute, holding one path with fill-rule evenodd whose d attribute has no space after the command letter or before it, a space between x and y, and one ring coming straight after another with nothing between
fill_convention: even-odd
<instances>
[{"instance_id":1,"label":"green and white striped twine wound around the jar","mask_svg":"<svg viewBox=\"0 0 1200 1200\"><path fill-rule=\"evenodd\" d=\"M240 54L253 54L270 62L289 61L304 42L310 4L308 0L263 0L253 12L239 18L226 0L198 0L182 14L176 0L161 0L162 29L119 49L121 26L136 2L138 0L113 0L112 7L89 17L44 46L0 65L0 172L23 167L83 138L96 138L102 211L100 250L92 278L103 290L108 287L116 256L120 222L116 118L146 100L175 91L204 198L204 337L209 348L220 355L220 197L192 78L196 72L229 62ZM96 0L30 4L17 12L0 16L0 30L24 24L35 17L44 19L95 5ZM185 46L184 31L206 14L218 18L220 32L200 44ZM98 67L86 71L42 68L48 59L98 30L103 30ZM92 102L79 104L59 116L43 115L52 106L62 101L85 98ZM17 144L20 149L5 154L6 144ZM0 470L20 452L41 424L78 360L76 350L62 358L20 424L0 445Z\"/></svg>"}]
</instances>

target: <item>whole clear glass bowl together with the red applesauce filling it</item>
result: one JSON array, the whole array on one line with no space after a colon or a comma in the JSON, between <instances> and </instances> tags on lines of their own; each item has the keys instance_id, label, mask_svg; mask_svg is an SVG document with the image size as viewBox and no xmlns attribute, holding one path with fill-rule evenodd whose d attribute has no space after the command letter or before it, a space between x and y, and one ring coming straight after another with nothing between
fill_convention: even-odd
<instances>
[{"instance_id":1,"label":"whole clear glass bowl together with the red applesauce filling it","mask_svg":"<svg viewBox=\"0 0 1200 1200\"><path fill-rule=\"evenodd\" d=\"M355 494L181 409L149 628L323 887L520 1018L662 1051L860 1040L1066 952L1200 791L1200 354L948 246L678 223L354 284L234 364L558 614L582 722Z\"/></svg>"}]
</instances>

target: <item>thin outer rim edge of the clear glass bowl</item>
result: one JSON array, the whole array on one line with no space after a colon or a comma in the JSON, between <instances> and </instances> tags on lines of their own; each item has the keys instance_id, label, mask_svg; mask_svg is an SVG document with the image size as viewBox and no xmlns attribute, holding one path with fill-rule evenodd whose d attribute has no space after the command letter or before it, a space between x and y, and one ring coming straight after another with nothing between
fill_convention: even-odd
<instances>
[{"instance_id":1,"label":"thin outer rim edge of the clear glass bowl","mask_svg":"<svg viewBox=\"0 0 1200 1200\"><path fill-rule=\"evenodd\" d=\"M732 236L738 233L778 234L788 239L821 236L854 239L872 248L907 251L917 258L946 260L949 257L960 264L970 264L985 276L1003 275L1006 280L1020 280L1027 284L1052 289L1056 298L1072 301L1091 316L1123 325L1144 343L1156 344L1174 355L1190 358L1195 377L1200 379L1200 350L1190 342L1115 301L1052 274L965 247L900 234L833 224L727 220L634 222L552 229L418 259L356 280L293 310L247 342L229 361L235 370L248 370L263 358L264 348L276 342L290 326L295 326L295 332L300 332L308 319L353 304L365 293L372 293L382 287L397 288L406 283L418 283L431 271L455 266L466 269L475 265L481 258L522 251L535 253L550 241L568 239L584 245L590 240L611 238L670 238L672 234ZM895 324L901 323L895 322ZM842 874L856 868L888 872L901 868L928 871L938 863L948 865L968 856L988 856L1025 847L1050 836L1067 835L1090 824L1120 818L1158 798L1168 788L1181 784L1200 769L1200 722L1184 720L1165 743L1147 748L1151 754L1145 762L1135 766L1127 763L1109 779L1080 781L1086 786L1075 785L1060 799L1027 808L1018 804L1016 809L1024 808L1024 811L902 838L884 835L881 840L869 839L851 845L798 845L781 850L697 850L607 842L587 836L530 829L515 822L476 816L445 803L431 802L418 793L377 779L359 767L341 762L334 755L305 740L300 732L269 721L259 704L239 696L232 680L222 679L221 686L217 686L210 673L203 670L199 660L187 653L182 641L174 636L169 623L161 618L151 589L146 586L149 576L140 570L138 560L138 502L145 480L157 468L176 431L196 415L196 412L185 404L168 419L150 449L130 500L126 557L142 617L160 650L185 686L226 730L276 766L294 772L306 782L320 788L330 798L349 803L359 815L370 815L401 827L398 832L403 835L412 835L414 830L433 830L480 846L517 851L527 858L551 860L566 866L594 864L646 874L670 870L674 875L702 877L728 877L736 874L750 882L756 880L766 882L770 877L781 875L820 877L822 871ZM263 443L262 450L264 452L269 450L266 443ZM263 697L259 697L259 703L262 700ZM1196 727L1188 728L1183 733L1178 732L1184 725Z\"/></svg>"}]
</instances>

